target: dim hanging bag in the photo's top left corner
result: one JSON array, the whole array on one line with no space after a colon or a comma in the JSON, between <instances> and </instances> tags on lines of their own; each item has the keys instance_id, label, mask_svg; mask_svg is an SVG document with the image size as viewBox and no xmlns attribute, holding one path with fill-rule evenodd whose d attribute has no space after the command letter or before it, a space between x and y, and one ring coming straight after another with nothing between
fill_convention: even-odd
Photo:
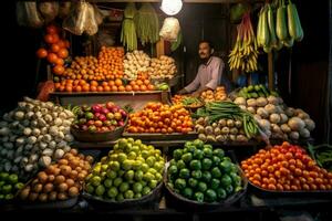
<instances>
[{"instance_id":1,"label":"dim hanging bag in the photo's top left corner","mask_svg":"<svg viewBox=\"0 0 332 221\"><path fill-rule=\"evenodd\" d=\"M44 20L37 9L35 2L17 2L17 20L21 27L41 28Z\"/></svg>"}]
</instances>

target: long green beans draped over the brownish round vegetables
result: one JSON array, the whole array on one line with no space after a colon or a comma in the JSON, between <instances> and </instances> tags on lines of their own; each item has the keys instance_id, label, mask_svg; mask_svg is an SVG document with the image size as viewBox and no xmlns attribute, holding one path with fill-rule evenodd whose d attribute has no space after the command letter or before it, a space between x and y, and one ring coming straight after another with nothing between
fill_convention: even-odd
<instances>
[{"instance_id":1,"label":"long green beans draped over the brownish round vegetables","mask_svg":"<svg viewBox=\"0 0 332 221\"><path fill-rule=\"evenodd\" d=\"M248 138L255 137L259 127L253 116L232 102L212 102L205 107L197 109L195 117L209 117L209 123L219 119L236 119L243 123L243 129Z\"/></svg>"}]
</instances>

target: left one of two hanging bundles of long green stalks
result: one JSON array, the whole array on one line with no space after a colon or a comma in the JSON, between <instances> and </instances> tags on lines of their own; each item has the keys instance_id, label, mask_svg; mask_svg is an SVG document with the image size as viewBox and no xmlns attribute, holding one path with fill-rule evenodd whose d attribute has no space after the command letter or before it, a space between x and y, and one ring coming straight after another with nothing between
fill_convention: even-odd
<instances>
[{"instance_id":1,"label":"left one of two hanging bundles of long green stalks","mask_svg":"<svg viewBox=\"0 0 332 221\"><path fill-rule=\"evenodd\" d=\"M137 35L134 23L136 15L136 8L134 2L127 3L124 11L124 20L122 22L121 42L126 46L127 51L134 51L137 49Z\"/></svg>"}]
</instances>

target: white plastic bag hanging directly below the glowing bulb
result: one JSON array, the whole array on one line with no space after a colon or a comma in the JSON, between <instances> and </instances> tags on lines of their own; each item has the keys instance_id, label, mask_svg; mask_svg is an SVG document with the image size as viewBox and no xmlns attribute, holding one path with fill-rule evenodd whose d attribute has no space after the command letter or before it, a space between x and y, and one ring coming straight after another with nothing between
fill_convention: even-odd
<instances>
[{"instance_id":1,"label":"white plastic bag hanging directly below the glowing bulb","mask_svg":"<svg viewBox=\"0 0 332 221\"><path fill-rule=\"evenodd\" d=\"M174 17L169 17L164 20L164 24L159 32L159 35L166 41L174 42L177 40L179 31L180 25L178 20Z\"/></svg>"}]
</instances>

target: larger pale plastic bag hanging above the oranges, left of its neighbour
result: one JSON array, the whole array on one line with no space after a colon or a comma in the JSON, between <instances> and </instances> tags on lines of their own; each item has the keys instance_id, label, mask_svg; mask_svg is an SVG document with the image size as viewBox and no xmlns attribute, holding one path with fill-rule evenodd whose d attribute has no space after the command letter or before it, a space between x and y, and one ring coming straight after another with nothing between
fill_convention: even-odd
<instances>
[{"instance_id":1,"label":"larger pale plastic bag hanging above the oranges, left of its neighbour","mask_svg":"<svg viewBox=\"0 0 332 221\"><path fill-rule=\"evenodd\" d=\"M82 35L89 13L89 4L82 1L77 2L70 15L63 21L62 28L73 34Z\"/></svg>"}]
</instances>

